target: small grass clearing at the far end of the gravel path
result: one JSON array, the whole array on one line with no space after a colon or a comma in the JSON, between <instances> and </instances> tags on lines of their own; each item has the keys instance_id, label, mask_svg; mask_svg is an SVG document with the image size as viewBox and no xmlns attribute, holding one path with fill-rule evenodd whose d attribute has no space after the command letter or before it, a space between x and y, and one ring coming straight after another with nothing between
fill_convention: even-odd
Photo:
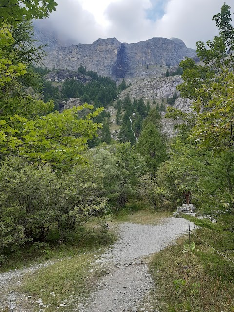
<instances>
[{"instance_id":1,"label":"small grass clearing at the far end of the gravel path","mask_svg":"<svg viewBox=\"0 0 234 312\"><path fill-rule=\"evenodd\" d=\"M138 224L162 224L166 217L172 216L168 211L152 211L145 202L127 203L125 207L117 210L114 220Z\"/></svg>"}]
</instances>

